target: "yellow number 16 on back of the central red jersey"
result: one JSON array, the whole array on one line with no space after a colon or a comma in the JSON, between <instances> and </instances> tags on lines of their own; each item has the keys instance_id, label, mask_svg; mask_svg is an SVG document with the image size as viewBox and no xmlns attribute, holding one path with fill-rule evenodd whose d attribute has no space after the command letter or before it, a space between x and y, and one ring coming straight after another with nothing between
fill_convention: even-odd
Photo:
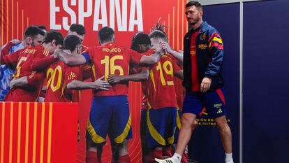
<instances>
[{"instance_id":1,"label":"yellow number 16 on back of the central red jersey","mask_svg":"<svg viewBox=\"0 0 289 163\"><path fill-rule=\"evenodd\" d=\"M108 75L114 75L115 71L119 71L119 76L124 75L124 69L121 66L114 65L114 61L117 59L124 59L122 55L110 56L105 55L105 58L101 60L101 64L105 64L105 80L108 80Z\"/></svg>"}]
</instances>

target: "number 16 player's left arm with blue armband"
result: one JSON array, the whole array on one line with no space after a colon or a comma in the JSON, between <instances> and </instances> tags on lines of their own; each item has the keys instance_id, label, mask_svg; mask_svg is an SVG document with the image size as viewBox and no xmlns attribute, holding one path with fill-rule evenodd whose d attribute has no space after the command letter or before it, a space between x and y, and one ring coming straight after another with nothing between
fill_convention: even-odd
<instances>
[{"instance_id":1,"label":"number 16 player's left arm with blue armband","mask_svg":"<svg viewBox=\"0 0 289 163\"><path fill-rule=\"evenodd\" d=\"M63 50L55 50L54 55L59 57L59 59L64 62L64 64L67 64L69 66L77 66L80 64L87 63L87 59L89 59L88 53L85 53L83 55L70 55L67 52Z\"/></svg>"}]
</instances>

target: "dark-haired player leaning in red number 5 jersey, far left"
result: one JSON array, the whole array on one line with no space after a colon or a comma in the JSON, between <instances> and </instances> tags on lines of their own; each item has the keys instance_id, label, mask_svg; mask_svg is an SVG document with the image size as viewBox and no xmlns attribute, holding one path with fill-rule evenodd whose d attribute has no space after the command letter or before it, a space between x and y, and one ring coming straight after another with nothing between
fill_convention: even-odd
<instances>
[{"instance_id":1,"label":"dark-haired player leaning in red number 5 jersey, far left","mask_svg":"<svg viewBox=\"0 0 289 163\"><path fill-rule=\"evenodd\" d=\"M29 46L10 55L1 55L1 64L16 65L16 71L11 81L11 90L5 101L37 101L43 84L43 72L31 71L34 59L50 56L54 50L61 48L63 37L58 31L45 34L41 45Z\"/></svg>"}]
</instances>

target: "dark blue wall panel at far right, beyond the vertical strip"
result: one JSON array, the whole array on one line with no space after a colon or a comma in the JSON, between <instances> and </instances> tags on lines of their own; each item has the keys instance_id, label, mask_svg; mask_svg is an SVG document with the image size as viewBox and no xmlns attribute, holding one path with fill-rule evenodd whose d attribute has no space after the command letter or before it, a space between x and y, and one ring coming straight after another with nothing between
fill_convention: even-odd
<instances>
[{"instance_id":1,"label":"dark blue wall panel at far right, beyond the vertical strip","mask_svg":"<svg viewBox=\"0 0 289 163\"><path fill-rule=\"evenodd\" d=\"M288 8L244 3L244 163L289 162Z\"/></svg>"}]
</instances>

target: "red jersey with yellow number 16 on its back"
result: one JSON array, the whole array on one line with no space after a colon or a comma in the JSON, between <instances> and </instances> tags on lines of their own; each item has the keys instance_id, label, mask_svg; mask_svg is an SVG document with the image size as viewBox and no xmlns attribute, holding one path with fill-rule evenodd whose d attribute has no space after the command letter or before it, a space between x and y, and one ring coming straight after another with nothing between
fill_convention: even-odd
<instances>
[{"instance_id":1,"label":"red jersey with yellow number 16 on its back","mask_svg":"<svg viewBox=\"0 0 289 163\"><path fill-rule=\"evenodd\" d=\"M114 43L90 48L88 52L95 79L105 76L107 80L109 75L114 74L127 76L130 72L129 65L139 64L142 58L140 53ZM128 95L128 83L117 83L109 89L108 91L94 91L94 96Z\"/></svg>"}]
</instances>

